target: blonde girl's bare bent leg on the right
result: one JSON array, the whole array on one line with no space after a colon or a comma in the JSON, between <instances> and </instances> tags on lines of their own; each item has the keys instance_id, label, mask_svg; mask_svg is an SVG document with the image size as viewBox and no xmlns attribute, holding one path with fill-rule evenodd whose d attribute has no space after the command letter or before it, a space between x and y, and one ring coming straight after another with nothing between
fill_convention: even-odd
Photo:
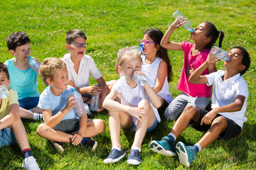
<instances>
[{"instance_id":1,"label":"blonde girl's bare bent leg on the right","mask_svg":"<svg viewBox=\"0 0 256 170\"><path fill-rule=\"evenodd\" d=\"M156 116L154 115L153 108L151 107L149 102L146 100L140 101L138 104L138 108L143 108L144 111L146 111L146 113L147 113L147 117L146 118L141 117L142 121L138 120L135 137L134 137L134 143L132 144L132 147L141 148L142 141L146 134L146 129L150 128L151 125L154 124Z\"/></svg>"}]
</instances>

